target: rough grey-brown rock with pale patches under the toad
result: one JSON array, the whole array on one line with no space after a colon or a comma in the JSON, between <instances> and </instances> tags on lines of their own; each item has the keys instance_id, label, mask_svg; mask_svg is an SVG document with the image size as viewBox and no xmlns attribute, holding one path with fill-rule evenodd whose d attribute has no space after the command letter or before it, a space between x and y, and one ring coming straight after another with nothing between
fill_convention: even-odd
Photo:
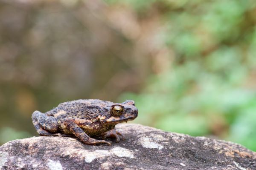
<instances>
[{"instance_id":1,"label":"rough grey-brown rock with pale patches under the toad","mask_svg":"<svg viewBox=\"0 0 256 170\"><path fill-rule=\"evenodd\" d=\"M32 137L0 147L0 169L256 170L256 153L232 142L118 124L125 141L90 146L76 138Z\"/></svg>"}]
</instances>

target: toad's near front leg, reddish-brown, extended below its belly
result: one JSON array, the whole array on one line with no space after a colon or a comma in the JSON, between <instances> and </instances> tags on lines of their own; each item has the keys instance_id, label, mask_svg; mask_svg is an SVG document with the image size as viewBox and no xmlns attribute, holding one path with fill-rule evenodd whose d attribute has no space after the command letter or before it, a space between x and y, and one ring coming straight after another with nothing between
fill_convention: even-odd
<instances>
[{"instance_id":1,"label":"toad's near front leg, reddish-brown, extended below its belly","mask_svg":"<svg viewBox=\"0 0 256 170\"><path fill-rule=\"evenodd\" d=\"M105 140L97 140L94 138L90 138L84 130L81 129L73 120L65 120L64 125L67 127L67 130L69 130L73 135L78 137L84 144L109 144L111 145L111 142L105 141Z\"/></svg>"}]
</instances>

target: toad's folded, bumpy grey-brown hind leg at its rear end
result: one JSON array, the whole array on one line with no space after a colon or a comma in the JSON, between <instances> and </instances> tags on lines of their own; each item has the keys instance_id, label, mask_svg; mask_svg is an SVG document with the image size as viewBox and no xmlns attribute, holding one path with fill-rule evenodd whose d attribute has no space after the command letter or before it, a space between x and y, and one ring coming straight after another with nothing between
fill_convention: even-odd
<instances>
[{"instance_id":1,"label":"toad's folded, bumpy grey-brown hind leg at its rear end","mask_svg":"<svg viewBox=\"0 0 256 170\"><path fill-rule=\"evenodd\" d=\"M54 117L47 116L36 110L32 114L32 122L40 136L58 135L58 133L56 133L58 132L58 122Z\"/></svg>"}]
</instances>

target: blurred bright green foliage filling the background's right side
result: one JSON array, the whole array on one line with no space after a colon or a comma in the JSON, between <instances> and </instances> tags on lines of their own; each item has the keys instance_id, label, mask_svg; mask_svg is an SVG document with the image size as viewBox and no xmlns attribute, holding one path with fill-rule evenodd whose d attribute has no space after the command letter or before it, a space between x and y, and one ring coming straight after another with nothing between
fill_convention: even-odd
<instances>
[{"instance_id":1,"label":"blurred bright green foliage filling the background's right side","mask_svg":"<svg viewBox=\"0 0 256 170\"><path fill-rule=\"evenodd\" d=\"M127 3L142 16L157 6L164 27L160 41L172 50L173 62L148 78L141 94L120 97L136 101L136 121L256 150L255 1L114 3Z\"/></svg>"}]
</instances>

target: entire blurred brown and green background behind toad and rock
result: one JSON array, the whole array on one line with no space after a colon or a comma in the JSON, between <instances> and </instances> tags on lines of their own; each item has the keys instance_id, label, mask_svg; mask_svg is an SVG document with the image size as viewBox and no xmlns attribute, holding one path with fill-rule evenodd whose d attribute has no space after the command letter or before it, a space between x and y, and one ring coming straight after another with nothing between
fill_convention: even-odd
<instances>
[{"instance_id":1,"label":"entire blurred brown and green background behind toad and rock","mask_svg":"<svg viewBox=\"0 0 256 170\"><path fill-rule=\"evenodd\" d=\"M80 98L256 151L256 1L0 0L0 144Z\"/></svg>"}]
</instances>

